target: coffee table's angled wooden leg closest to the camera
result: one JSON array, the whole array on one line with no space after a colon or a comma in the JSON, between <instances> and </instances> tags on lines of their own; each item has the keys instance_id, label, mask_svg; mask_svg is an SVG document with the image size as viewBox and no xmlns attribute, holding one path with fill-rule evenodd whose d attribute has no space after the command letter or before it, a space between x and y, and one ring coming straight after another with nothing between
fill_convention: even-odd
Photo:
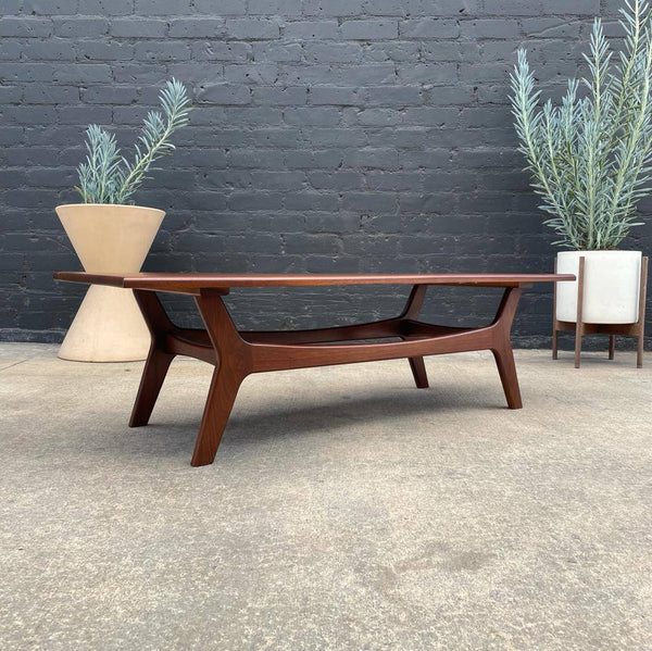
<instances>
[{"instance_id":1,"label":"coffee table's angled wooden leg closest to the camera","mask_svg":"<svg viewBox=\"0 0 652 651\"><path fill-rule=\"evenodd\" d=\"M213 463L238 389L250 373L248 345L236 330L220 293L204 291L196 302L218 361L195 443L193 466Z\"/></svg>"}]
</instances>

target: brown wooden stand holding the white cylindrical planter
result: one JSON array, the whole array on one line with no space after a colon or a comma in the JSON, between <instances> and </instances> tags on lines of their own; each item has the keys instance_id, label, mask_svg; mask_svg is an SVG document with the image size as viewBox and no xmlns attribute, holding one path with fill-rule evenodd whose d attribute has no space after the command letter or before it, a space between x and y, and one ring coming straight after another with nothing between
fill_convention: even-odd
<instances>
[{"instance_id":1,"label":"brown wooden stand holding the white cylindrical planter","mask_svg":"<svg viewBox=\"0 0 652 651\"><path fill-rule=\"evenodd\" d=\"M585 261L579 259L579 272L577 275L577 318L573 321L559 321L556 317L556 285L554 286L554 298L552 303L552 359L557 359L557 337L560 331L575 333L575 367L579 368L581 355L581 338L584 335L609 335L609 359L613 360L616 352L616 335L625 337L637 337L637 368L643 367L643 345L645 335L645 296L648 286L648 258L641 260L641 278L639 292L639 317L636 323L584 323L581 310L584 303L585 285ZM556 273L556 260L554 262Z\"/></svg>"}]
</instances>

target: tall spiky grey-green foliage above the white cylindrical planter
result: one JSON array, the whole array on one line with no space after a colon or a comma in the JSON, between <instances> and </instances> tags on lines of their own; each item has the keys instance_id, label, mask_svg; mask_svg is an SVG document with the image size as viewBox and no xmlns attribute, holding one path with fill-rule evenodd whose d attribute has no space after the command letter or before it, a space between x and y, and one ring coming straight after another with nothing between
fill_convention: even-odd
<instances>
[{"instance_id":1,"label":"tall spiky grey-green foliage above the white cylindrical planter","mask_svg":"<svg viewBox=\"0 0 652 651\"><path fill-rule=\"evenodd\" d=\"M649 2L626 0L620 13L625 48L615 61L601 21L593 23L584 97L570 79L561 105L541 107L523 49L511 76L518 149L551 215L544 223L565 248L617 247L641 224L637 203L651 189L652 11Z\"/></svg>"}]
</instances>

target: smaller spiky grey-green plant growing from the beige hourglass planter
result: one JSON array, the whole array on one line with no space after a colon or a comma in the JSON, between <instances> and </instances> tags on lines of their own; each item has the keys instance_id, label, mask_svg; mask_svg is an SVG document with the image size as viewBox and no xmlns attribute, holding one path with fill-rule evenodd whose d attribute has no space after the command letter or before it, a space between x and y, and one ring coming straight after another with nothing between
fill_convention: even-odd
<instances>
[{"instance_id":1,"label":"smaller spiky grey-green plant growing from the beige hourglass planter","mask_svg":"<svg viewBox=\"0 0 652 651\"><path fill-rule=\"evenodd\" d=\"M172 79L160 95L161 111L150 111L143 121L131 161L121 155L115 136L97 124L86 130L86 162L77 167L84 203L128 203L152 163L175 147L170 138L188 124L191 110L185 86Z\"/></svg>"}]
</instances>

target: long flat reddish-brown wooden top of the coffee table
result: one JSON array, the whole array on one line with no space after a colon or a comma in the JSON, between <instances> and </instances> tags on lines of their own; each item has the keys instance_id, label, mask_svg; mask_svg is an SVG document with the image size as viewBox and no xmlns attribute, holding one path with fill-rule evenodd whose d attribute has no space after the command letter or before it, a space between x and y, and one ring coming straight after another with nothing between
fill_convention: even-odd
<instances>
[{"instance_id":1,"label":"long flat reddish-brown wooden top of the coffee table","mask_svg":"<svg viewBox=\"0 0 652 651\"><path fill-rule=\"evenodd\" d=\"M57 280L199 293L202 289L231 287L311 287L319 285L460 285L473 287L518 287L531 283L575 280L572 274L99 274L57 272Z\"/></svg>"}]
</instances>

